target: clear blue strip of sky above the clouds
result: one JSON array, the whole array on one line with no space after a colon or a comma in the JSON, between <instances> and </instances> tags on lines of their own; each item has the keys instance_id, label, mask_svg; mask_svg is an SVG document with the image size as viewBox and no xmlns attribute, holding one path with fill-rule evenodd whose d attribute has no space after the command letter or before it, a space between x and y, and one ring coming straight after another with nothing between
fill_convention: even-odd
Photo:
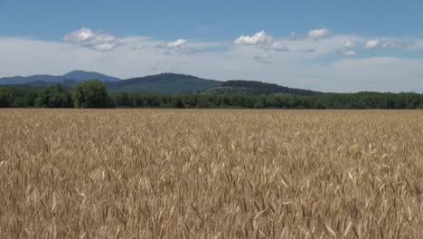
<instances>
[{"instance_id":1,"label":"clear blue strip of sky above the clouds","mask_svg":"<svg viewBox=\"0 0 423 239\"><path fill-rule=\"evenodd\" d=\"M339 33L423 36L421 0L0 0L0 33L60 40L81 26L118 35L221 40L330 27Z\"/></svg>"}]
</instances>

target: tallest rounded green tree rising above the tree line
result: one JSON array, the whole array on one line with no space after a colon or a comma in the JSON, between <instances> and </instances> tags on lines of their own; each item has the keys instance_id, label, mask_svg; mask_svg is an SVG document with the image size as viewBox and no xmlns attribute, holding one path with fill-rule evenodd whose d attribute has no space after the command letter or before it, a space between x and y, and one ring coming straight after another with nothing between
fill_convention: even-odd
<instances>
[{"instance_id":1,"label":"tallest rounded green tree rising above the tree line","mask_svg":"<svg viewBox=\"0 0 423 239\"><path fill-rule=\"evenodd\" d=\"M78 83L74 88L74 105L77 108L107 108L110 97L103 82L88 80Z\"/></svg>"}]
</instances>

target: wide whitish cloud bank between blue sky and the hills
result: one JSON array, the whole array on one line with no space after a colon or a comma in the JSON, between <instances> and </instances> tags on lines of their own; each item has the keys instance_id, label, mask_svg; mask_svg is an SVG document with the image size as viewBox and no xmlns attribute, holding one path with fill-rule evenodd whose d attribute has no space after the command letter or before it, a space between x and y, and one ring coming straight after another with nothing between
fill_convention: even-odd
<instances>
[{"instance_id":1,"label":"wide whitish cloud bank between blue sky and the hills","mask_svg":"<svg viewBox=\"0 0 423 239\"><path fill-rule=\"evenodd\" d=\"M385 53L388 49L400 51L401 57ZM260 31L208 42L116 36L80 28L61 42L0 37L0 76L59 75L78 69L125 79L181 72L316 91L423 92L423 60L405 56L422 51L423 39L367 37L327 29L294 36Z\"/></svg>"}]
</instances>

